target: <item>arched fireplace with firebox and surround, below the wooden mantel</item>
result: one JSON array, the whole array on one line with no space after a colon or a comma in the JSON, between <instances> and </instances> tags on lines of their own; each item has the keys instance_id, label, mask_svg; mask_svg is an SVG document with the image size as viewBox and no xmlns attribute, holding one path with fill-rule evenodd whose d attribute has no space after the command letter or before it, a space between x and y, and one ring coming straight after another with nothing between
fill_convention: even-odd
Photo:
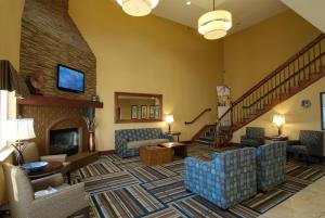
<instances>
[{"instance_id":1,"label":"arched fireplace with firebox and surround, below the wooden mantel","mask_svg":"<svg viewBox=\"0 0 325 218\"><path fill-rule=\"evenodd\" d=\"M65 107L65 106L35 106L35 105L21 105L20 114L23 117L34 118L36 139L41 155L50 155L58 152L58 149L63 149L66 145L64 141L75 140L72 144L78 144L73 150L60 153L66 153L72 155L75 152L88 151L89 133L87 126L82 119L82 115L86 113L87 107ZM57 137L57 133L63 136ZM68 133L70 131L70 133ZM75 132L75 133L74 133ZM77 140L74 137L77 136ZM53 138L54 137L54 138ZM69 139L68 139L69 138ZM51 141L56 141L56 149L53 150ZM72 148L70 148L72 149Z\"/></svg>"}]
</instances>

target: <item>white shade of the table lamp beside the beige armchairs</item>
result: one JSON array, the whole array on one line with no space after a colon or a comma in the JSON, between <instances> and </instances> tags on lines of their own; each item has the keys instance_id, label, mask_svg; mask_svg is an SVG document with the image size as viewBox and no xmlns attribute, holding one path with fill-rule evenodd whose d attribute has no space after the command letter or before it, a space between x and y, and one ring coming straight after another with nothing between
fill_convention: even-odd
<instances>
[{"instance_id":1,"label":"white shade of the table lamp beside the beige armchairs","mask_svg":"<svg viewBox=\"0 0 325 218\"><path fill-rule=\"evenodd\" d=\"M6 121L6 140L15 142L17 140L34 139L34 119L12 119Z\"/></svg>"}]
</instances>

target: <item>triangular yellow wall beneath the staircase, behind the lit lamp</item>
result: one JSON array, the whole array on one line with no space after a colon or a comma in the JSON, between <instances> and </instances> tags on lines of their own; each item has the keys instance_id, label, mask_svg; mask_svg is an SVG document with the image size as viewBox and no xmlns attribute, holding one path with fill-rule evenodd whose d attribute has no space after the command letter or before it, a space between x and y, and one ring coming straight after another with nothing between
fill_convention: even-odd
<instances>
[{"instance_id":1,"label":"triangular yellow wall beneath the staircase, behind the lit lamp","mask_svg":"<svg viewBox=\"0 0 325 218\"><path fill-rule=\"evenodd\" d=\"M284 114L286 124L283 133L289 139L298 139L299 130L321 130L321 101L320 92L325 91L325 78L320 79L303 91L278 104L273 110L258 119L248 124L251 127L264 127L266 136L277 134L277 128L272 124L274 114ZM300 106L301 100L310 100L311 107ZM239 142L240 136L245 134L245 127L234 133L233 141ZM324 146L325 151L325 146ZM324 152L325 155L325 152Z\"/></svg>"}]
</instances>

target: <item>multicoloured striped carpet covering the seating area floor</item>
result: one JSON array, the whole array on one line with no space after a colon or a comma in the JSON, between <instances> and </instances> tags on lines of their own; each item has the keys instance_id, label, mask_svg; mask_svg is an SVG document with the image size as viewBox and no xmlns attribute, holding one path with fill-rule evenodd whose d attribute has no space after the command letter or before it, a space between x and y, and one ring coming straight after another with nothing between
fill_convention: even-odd
<instances>
[{"instance_id":1,"label":"multicoloured striped carpet covering the seating area floor","mask_svg":"<svg viewBox=\"0 0 325 218\"><path fill-rule=\"evenodd\" d=\"M188 154L208 159L213 150L190 146ZM91 216L99 218L257 218L325 175L324 165L289 161L286 181L266 193L224 210L185 190L183 159L144 166L139 157L102 156L72 175L84 182Z\"/></svg>"}]
</instances>

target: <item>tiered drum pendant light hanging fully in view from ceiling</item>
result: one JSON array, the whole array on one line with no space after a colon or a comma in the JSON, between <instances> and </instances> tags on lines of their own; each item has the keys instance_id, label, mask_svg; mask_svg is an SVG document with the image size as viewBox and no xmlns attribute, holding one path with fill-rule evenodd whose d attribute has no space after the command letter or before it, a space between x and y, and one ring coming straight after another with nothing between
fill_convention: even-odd
<instances>
[{"instance_id":1,"label":"tiered drum pendant light hanging fully in view from ceiling","mask_svg":"<svg viewBox=\"0 0 325 218\"><path fill-rule=\"evenodd\" d=\"M219 39L232 27L232 14L218 10L205 13L198 18L198 33L206 39Z\"/></svg>"}]
</instances>

